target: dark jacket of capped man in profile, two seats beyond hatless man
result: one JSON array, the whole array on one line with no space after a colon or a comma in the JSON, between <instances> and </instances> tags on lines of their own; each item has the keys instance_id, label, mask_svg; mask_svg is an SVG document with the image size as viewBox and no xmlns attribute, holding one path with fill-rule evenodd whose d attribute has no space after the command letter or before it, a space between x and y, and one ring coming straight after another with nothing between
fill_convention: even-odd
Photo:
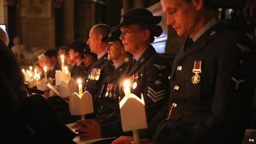
<instances>
[{"instance_id":1,"label":"dark jacket of capped man in profile, two seats beyond hatless man","mask_svg":"<svg viewBox=\"0 0 256 144\"><path fill-rule=\"evenodd\" d=\"M86 67L85 63L82 62L79 66L76 66L76 68L73 70L73 73L75 74L72 75L72 78L75 80L77 80L78 78L83 79L87 75L88 71L89 71L89 67Z\"/></svg>"}]
</instances>

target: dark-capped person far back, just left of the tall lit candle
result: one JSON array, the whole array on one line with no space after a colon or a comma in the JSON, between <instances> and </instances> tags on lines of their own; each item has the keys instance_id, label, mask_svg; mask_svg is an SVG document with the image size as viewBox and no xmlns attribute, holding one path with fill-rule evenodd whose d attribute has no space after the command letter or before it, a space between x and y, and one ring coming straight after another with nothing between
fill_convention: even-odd
<instances>
[{"instance_id":1,"label":"dark-capped person far back, just left of the tall lit candle","mask_svg":"<svg viewBox=\"0 0 256 144\"><path fill-rule=\"evenodd\" d=\"M61 66L58 62L58 52L54 49L46 50L44 53L46 59L46 66L48 67L47 78L53 79L55 85L55 73L57 70L61 70Z\"/></svg>"}]
</instances>

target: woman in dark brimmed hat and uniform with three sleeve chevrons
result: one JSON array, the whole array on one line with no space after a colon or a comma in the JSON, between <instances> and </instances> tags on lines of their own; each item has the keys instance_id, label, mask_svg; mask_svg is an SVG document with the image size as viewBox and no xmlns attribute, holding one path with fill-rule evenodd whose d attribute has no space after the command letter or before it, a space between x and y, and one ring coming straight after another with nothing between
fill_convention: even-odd
<instances>
[{"instance_id":1,"label":"woman in dark brimmed hat and uniform with three sleeve chevrons","mask_svg":"<svg viewBox=\"0 0 256 144\"><path fill-rule=\"evenodd\" d=\"M140 15L138 15L140 14ZM161 16L153 16L153 14L147 9L135 8L130 9L124 14L123 22L116 27L122 30L120 39L124 43L125 50L132 53L134 56L133 63L127 66L121 79L120 96L123 98L123 81L129 80L132 85L131 93L141 98L141 94L144 96L146 119L150 121L155 114L161 109L162 105L166 103L166 91L168 89L168 75L171 71L171 66L167 59L157 53L153 46L150 45L154 41L154 36L159 37L162 31L156 32L156 29L162 28L157 26L161 21ZM142 21L147 18L149 21ZM139 24L144 24L145 29L139 27ZM134 29L132 29L132 26ZM154 30L153 30L154 27ZM127 32L127 33L126 33ZM129 33L130 32L130 33ZM129 34L128 34L129 33ZM137 47L139 46L139 47ZM119 105L117 106L119 108ZM136 118L135 118L136 120ZM88 124L92 121L78 121L78 123L84 124L90 131ZM93 127L92 133L97 135L95 131L98 131L100 135L94 138L100 137L114 137L123 134L121 119L117 121L107 121L100 126L99 130L96 130L97 124ZM80 132L78 130L78 132ZM91 133L88 133L90 135ZM81 136L87 136L81 134ZM85 137L85 139L90 137Z\"/></svg>"}]
</instances>

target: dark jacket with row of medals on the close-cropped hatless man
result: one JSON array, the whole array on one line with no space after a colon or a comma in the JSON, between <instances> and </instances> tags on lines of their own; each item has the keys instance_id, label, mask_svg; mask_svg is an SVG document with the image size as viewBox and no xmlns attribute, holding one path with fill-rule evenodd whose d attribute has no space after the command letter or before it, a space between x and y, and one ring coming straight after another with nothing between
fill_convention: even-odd
<instances>
[{"instance_id":1,"label":"dark jacket with row of medals on the close-cropped hatless man","mask_svg":"<svg viewBox=\"0 0 256 144\"><path fill-rule=\"evenodd\" d=\"M107 75L110 73L112 69L113 63L112 61L107 59L107 53L103 55L100 59L96 60L94 64L89 69L87 76L83 80L84 87L86 87L86 91L88 91L91 96L93 96L94 107L99 107L98 96L101 92L101 87L103 86L104 80L107 78ZM90 73L92 73L93 69L101 69L101 73L99 75L98 80L92 80L89 78Z\"/></svg>"}]
</instances>

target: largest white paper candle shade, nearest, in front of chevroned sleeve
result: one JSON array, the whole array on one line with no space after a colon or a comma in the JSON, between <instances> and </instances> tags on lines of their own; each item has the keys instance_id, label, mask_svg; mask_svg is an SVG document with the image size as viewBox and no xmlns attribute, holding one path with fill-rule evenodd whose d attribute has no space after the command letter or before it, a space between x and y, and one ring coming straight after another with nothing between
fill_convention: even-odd
<instances>
[{"instance_id":1,"label":"largest white paper candle shade, nearest, in front of chevroned sleeve","mask_svg":"<svg viewBox=\"0 0 256 144\"><path fill-rule=\"evenodd\" d=\"M119 103L123 131L131 131L147 128L145 103L134 94L130 98L126 96Z\"/></svg>"}]
</instances>

